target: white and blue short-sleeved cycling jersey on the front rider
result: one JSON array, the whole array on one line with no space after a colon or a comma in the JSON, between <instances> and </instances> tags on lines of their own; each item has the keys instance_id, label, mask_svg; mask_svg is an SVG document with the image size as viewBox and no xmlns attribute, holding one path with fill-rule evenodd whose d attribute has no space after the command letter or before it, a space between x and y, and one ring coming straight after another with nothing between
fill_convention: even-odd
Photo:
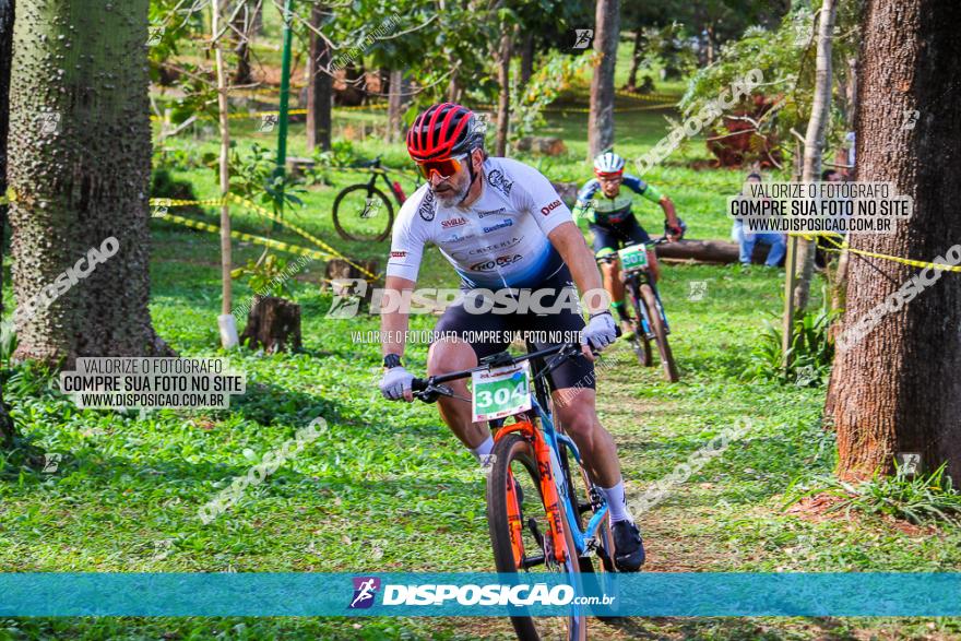
<instances>
[{"instance_id":1,"label":"white and blue short-sleeved cycling jersey on the front rider","mask_svg":"<svg viewBox=\"0 0 961 641\"><path fill-rule=\"evenodd\" d=\"M534 287L563 268L547 235L572 217L547 178L509 158L488 158L483 169L480 197L468 207L442 206L428 185L404 202L388 276L416 281L428 242L466 287Z\"/></svg>"}]
</instances>

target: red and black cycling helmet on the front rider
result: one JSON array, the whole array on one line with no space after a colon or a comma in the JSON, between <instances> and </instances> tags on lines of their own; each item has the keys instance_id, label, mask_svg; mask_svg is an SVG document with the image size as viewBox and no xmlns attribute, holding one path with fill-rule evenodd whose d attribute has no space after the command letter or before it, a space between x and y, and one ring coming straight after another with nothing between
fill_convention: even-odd
<instances>
[{"instance_id":1,"label":"red and black cycling helmet on the front rider","mask_svg":"<svg viewBox=\"0 0 961 641\"><path fill-rule=\"evenodd\" d=\"M484 145L474 112L455 103L432 105L407 131L407 153L414 162L448 158Z\"/></svg>"}]
</instances>

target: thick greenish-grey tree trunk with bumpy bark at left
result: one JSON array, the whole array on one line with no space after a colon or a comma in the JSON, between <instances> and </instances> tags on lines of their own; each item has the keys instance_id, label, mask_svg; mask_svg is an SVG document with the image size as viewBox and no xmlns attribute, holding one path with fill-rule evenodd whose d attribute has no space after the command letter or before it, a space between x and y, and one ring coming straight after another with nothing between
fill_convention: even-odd
<instances>
[{"instance_id":1,"label":"thick greenish-grey tree trunk with bumpy bark at left","mask_svg":"<svg viewBox=\"0 0 961 641\"><path fill-rule=\"evenodd\" d=\"M147 0L17 5L13 290L22 306L59 294L17 319L19 359L71 365L78 356L170 353L147 309L146 38ZM92 266L88 252L114 247L111 237L116 254ZM58 280L68 268L72 277Z\"/></svg>"}]
</instances>

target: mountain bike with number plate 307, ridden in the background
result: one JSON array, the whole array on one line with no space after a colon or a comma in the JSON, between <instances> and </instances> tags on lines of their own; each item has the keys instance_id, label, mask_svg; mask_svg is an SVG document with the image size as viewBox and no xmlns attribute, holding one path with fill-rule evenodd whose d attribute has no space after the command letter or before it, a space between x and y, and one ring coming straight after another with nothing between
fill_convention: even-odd
<instances>
[{"instance_id":1,"label":"mountain bike with number plate 307, ridden in the background","mask_svg":"<svg viewBox=\"0 0 961 641\"><path fill-rule=\"evenodd\" d=\"M674 383L680 377L677 373L674 353L667 342L671 325L667 323L667 314L664 313L664 305L661 302L657 286L651 277L651 265L648 262L648 249L653 249L663 242L667 242L666 236L649 244L631 245L616 253L598 257L597 262L620 260L620 277L624 281L625 293L630 299L631 323L634 325L633 335L629 339L631 348L641 365L651 367L654 361L651 348L653 341L661 354L664 376Z\"/></svg>"}]
</instances>

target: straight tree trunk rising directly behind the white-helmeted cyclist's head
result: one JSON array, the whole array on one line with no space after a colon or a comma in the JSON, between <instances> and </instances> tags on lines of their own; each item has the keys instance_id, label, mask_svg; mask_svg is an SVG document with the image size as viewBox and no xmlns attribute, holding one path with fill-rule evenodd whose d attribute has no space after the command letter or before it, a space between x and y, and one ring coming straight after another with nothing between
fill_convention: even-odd
<instances>
[{"instance_id":1,"label":"straight tree trunk rising directly behind the white-helmeted cyclist's head","mask_svg":"<svg viewBox=\"0 0 961 641\"><path fill-rule=\"evenodd\" d=\"M591 79L588 161L614 144L614 68L620 32L620 0L597 0L594 51L601 60Z\"/></svg>"}]
</instances>

